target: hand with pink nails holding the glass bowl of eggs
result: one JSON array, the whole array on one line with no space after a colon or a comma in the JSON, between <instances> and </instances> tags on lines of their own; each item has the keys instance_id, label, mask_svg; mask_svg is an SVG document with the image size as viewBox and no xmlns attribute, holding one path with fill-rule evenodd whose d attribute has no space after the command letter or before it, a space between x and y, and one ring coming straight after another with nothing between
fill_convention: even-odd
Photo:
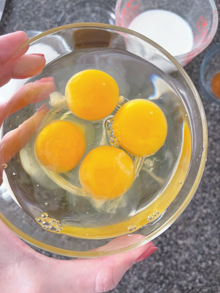
<instances>
[{"instance_id":1,"label":"hand with pink nails holding the glass bowl of eggs","mask_svg":"<svg viewBox=\"0 0 220 293\"><path fill-rule=\"evenodd\" d=\"M43 55L17 54L27 40L23 32L0 37L0 86L10 78L26 78L38 74L45 65ZM20 70L22 68L22 70ZM23 72L26 72L24 75ZM10 114L29 103L46 99L55 91L53 78L41 79L22 86L10 100L0 104L0 125ZM4 163L29 141L48 112L44 104L17 129L8 132L0 143L0 185ZM57 260L37 253L0 221L0 291L1 293L98 293L113 289L133 265L151 255L157 248L150 241L132 251L93 259ZM108 250L129 246L143 236L121 236L107 244ZM97 248L96 251L103 248Z\"/></svg>"}]
</instances>

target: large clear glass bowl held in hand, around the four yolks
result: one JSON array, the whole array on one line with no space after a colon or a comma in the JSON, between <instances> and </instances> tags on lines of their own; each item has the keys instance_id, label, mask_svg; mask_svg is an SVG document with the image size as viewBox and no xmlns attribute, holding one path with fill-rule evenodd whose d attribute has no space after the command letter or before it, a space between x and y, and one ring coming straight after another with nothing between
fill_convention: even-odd
<instances>
[{"instance_id":1,"label":"large clear glass bowl held in hand, around the four yolks","mask_svg":"<svg viewBox=\"0 0 220 293\"><path fill-rule=\"evenodd\" d=\"M135 210L129 210L130 202L127 201L125 207L121 206L121 209L127 209L127 214L118 219L117 223L106 224L103 218L98 226L92 226L91 222L90 228L88 223L87 227L83 228L79 227L80 221L76 218L77 210L74 210L74 205L82 200L85 194L80 188L74 189L65 176L60 176L62 178L59 178L57 186L57 175L52 178L53 176L46 174L40 166L33 168L37 165L33 153L31 155L32 138L19 154L8 162L8 166L4 165L6 168L0 187L0 219L25 241L47 251L72 257L97 257L120 253L141 246L160 235L189 204L202 178L206 162L206 118L197 90L187 73L174 57L150 39L112 25L65 25L33 37L23 44L22 48L27 45L32 53L45 54L46 65L43 71L33 78L19 82L11 80L9 85L2 88L5 98L11 98L22 84L45 77L53 77L56 90L64 93L68 79L75 72L100 69L115 78L119 84L120 95L124 96L125 100L147 98L163 108L167 122L170 121L169 123L174 125L171 133L168 123L167 139L172 139L172 146L169 145L169 140L166 140L165 146L161 148L160 154L164 155L163 150L168 147L163 163L156 160L155 156L135 159L136 188L141 195ZM36 83L33 84L36 87ZM42 98L42 93L39 92L39 102L24 108L17 105L16 98L13 98L11 107L22 109L4 120L1 140L7 132L31 117L43 103L47 103L50 108L51 115L46 116L49 120L51 117L57 117L56 115L71 116L71 113L67 113L62 107L52 108L45 98L47 97ZM22 99L23 103L25 100L28 104L26 97ZM10 110L13 112L12 108L6 109ZM92 136L92 128L88 133ZM25 136L23 139L25 140ZM143 164L144 171L141 170ZM169 164L175 165L172 166L171 173ZM166 180L157 176L157 172L164 166L166 168L162 175L168 174ZM155 172L151 171L152 167ZM139 185L139 180L142 180L143 186ZM154 180L154 184L145 186L145 182L151 182L148 180ZM157 186L159 188L156 188ZM68 202L66 197L59 197L63 190L65 196L68 195ZM130 192L129 196L133 198L134 193ZM81 208L83 210L83 206L78 205L78 209ZM65 211L68 212L65 214ZM42 222L38 219L43 212L44 216L52 217L53 223L57 225L60 220L63 229L58 228L59 233L49 226L45 226L45 229L42 227ZM87 214L86 210L84 213ZM65 224L67 216L71 225ZM114 222L116 216L118 217L118 214L113 212L111 221ZM54 224L53 228L54 226L56 225ZM120 241L120 236L123 241ZM114 248L106 245L113 239Z\"/></svg>"}]
</instances>

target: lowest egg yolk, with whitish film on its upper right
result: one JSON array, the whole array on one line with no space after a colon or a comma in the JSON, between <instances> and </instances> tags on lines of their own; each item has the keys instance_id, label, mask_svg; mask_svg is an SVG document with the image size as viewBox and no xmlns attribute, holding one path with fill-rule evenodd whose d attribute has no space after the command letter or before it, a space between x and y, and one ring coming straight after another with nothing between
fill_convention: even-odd
<instances>
[{"instance_id":1,"label":"lowest egg yolk, with whitish film on its upper right","mask_svg":"<svg viewBox=\"0 0 220 293\"><path fill-rule=\"evenodd\" d=\"M102 146L90 151L82 161L79 181L91 197L112 200L131 187L134 174L134 163L128 154Z\"/></svg>"}]
</instances>

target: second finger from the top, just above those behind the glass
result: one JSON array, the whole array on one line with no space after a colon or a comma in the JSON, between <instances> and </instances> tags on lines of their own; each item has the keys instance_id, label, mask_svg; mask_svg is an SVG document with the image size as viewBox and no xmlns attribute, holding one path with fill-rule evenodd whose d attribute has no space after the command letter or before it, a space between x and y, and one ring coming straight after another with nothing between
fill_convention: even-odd
<instances>
[{"instance_id":1,"label":"second finger from the top, just above those behind the glass","mask_svg":"<svg viewBox=\"0 0 220 293\"><path fill-rule=\"evenodd\" d=\"M25 79L34 76L44 68L46 60L44 54L27 54L11 59L0 73L0 87L7 84L10 79Z\"/></svg>"}]
</instances>

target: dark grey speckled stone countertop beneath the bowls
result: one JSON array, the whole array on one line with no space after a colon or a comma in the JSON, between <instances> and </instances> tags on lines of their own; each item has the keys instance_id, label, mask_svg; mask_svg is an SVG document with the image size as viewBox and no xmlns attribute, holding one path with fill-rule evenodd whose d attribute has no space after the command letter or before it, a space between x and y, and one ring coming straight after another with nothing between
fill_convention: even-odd
<instances>
[{"instance_id":1,"label":"dark grey speckled stone countertop beneath the bowls","mask_svg":"<svg viewBox=\"0 0 220 293\"><path fill-rule=\"evenodd\" d=\"M53 28L66 9L80 2L82 0L7 0L0 34ZM216 0L216 4L220 10L220 0ZM219 43L219 39L220 29L207 50ZM111 293L220 292L220 108L206 99L198 81L200 63L207 50L185 68L199 91L209 131L208 161L201 184L185 212L154 240L158 251L134 265Z\"/></svg>"}]
</instances>

